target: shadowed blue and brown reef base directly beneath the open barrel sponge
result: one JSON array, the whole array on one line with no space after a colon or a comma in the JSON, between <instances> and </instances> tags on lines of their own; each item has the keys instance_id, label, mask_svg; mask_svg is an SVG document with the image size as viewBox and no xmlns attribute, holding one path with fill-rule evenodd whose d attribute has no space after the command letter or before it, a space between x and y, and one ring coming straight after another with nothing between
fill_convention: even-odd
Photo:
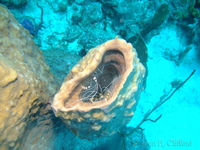
<instances>
[{"instance_id":1,"label":"shadowed blue and brown reef base directly beneath the open barrel sponge","mask_svg":"<svg viewBox=\"0 0 200 150\"><path fill-rule=\"evenodd\" d=\"M108 137L95 137L88 141L69 131L60 118L50 114L40 116L29 124L29 132L22 141L20 150L148 150L148 142L142 130L123 127L120 132ZM48 119L50 118L50 119ZM39 122L39 123L38 123ZM52 134L53 133L53 134Z\"/></svg>"}]
</instances>

